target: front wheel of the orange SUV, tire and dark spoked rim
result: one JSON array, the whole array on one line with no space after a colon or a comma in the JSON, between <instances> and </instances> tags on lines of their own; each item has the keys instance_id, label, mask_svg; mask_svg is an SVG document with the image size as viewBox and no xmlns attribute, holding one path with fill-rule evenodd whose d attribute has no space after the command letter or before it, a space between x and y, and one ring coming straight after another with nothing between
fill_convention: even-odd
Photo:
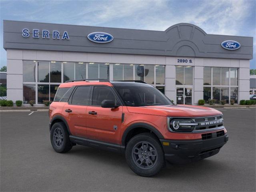
<instances>
[{"instance_id":1,"label":"front wheel of the orange SUV, tire and dark spoked rim","mask_svg":"<svg viewBox=\"0 0 256 192\"><path fill-rule=\"evenodd\" d=\"M131 170L144 177L156 175L165 165L162 146L151 133L131 138L126 145L125 157Z\"/></svg>"}]
</instances>

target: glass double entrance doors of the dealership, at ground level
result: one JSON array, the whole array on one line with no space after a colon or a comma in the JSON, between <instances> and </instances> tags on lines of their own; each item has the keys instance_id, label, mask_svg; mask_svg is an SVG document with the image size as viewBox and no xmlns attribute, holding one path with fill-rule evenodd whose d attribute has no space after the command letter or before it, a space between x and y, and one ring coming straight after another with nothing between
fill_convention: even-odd
<instances>
[{"instance_id":1,"label":"glass double entrance doors of the dealership, at ground level","mask_svg":"<svg viewBox=\"0 0 256 192\"><path fill-rule=\"evenodd\" d=\"M177 87L176 102L177 104L192 105L192 87Z\"/></svg>"}]
</instances>

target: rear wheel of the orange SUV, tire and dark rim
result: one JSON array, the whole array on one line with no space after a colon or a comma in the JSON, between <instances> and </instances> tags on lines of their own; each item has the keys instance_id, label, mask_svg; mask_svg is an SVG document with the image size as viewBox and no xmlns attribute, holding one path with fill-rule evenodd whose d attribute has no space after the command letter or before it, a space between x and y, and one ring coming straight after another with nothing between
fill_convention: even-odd
<instances>
[{"instance_id":1,"label":"rear wheel of the orange SUV, tire and dark rim","mask_svg":"<svg viewBox=\"0 0 256 192\"><path fill-rule=\"evenodd\" d=\"M69 140L67 128L63 122L54 123L51 129L52 148L58 153L65 153L71 150L72 143Z\"/></svg>"}]
</instances>

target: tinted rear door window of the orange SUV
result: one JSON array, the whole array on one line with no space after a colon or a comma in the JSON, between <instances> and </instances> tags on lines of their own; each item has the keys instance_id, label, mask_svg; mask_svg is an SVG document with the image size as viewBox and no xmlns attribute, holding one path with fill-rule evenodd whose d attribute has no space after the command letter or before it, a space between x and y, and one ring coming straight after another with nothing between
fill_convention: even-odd
<instances>
[{"instance_id":1,"label":"tinted rear door window of the orange SUV","mask_svg":"<svg viewBox=\"0 0 256 192\"><path fill-rule=\"evenodd\" d=\"M71 104L89 105L90 86L78 86L72 96Z\"/></svg>"}]
</instances>

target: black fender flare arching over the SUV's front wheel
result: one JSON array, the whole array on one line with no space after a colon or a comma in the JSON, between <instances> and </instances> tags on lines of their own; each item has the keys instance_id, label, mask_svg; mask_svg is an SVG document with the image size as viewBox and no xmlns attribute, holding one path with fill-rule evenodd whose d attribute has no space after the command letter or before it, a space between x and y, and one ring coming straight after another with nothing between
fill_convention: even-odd
<instances>
[{"instance_id":1,"label":"black fender flare arching over the SUV's front wheel","mask_svg":"<svg viewBox=\"0 0 256 192\"><path fill-rule=\"evenodd\" d=\"M146 128L146 129L152 131L154 134L156 134L156 136L159 139L164 139L164 136L152 125L147 124L147 123L134 123L134 124L130 125L128 128L126 128L126 130L124 131L124 134L122 136L122 146L125 146L125 140L126 140L128 133L135 128Z\"/></svg>"}]
</instances>

